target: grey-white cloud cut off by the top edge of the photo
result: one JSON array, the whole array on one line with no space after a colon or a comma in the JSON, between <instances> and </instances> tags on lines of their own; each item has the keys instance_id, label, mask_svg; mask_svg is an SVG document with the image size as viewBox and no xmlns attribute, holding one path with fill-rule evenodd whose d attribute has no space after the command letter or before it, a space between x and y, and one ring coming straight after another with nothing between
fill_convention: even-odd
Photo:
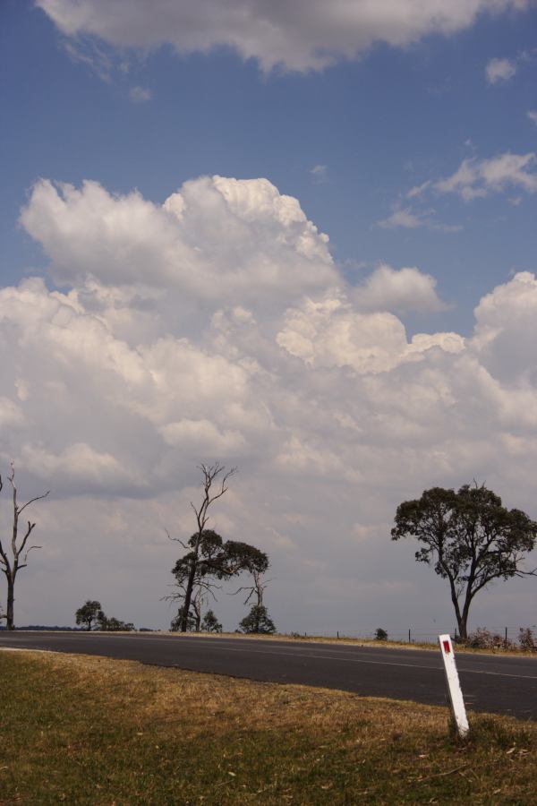
<instances>
[{"instance_id":1,"label":"grey-white cloud cut off by the top edge of the photo","mask_svg":"<svg viewBox=\"0 0 537 806\"><path fill-rule=\"evenodd\" d=\"M465 30L480 13L524 10L528 0L392 0L386 4L343 0L337 4L294 0L38 0L38 6L71 38L91 35L116 47L164 44L178 53L226 46L263 70L320 70L354 58L376 42L405 47L430 34Z\"/></svg>"}]
</instances>

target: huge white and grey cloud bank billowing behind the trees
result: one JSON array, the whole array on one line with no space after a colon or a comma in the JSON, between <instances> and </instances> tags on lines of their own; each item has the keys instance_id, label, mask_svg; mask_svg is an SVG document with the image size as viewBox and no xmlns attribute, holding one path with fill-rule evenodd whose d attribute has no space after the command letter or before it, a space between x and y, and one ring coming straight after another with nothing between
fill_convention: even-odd
<instances>
[{"instance_id":1,"label":"huge white and grey cloud bank billowing behind the trees","mask_svg":"<svg viewBox=\"0 0 537 806\"><path fill-rule=\"evenodd\" d=\"M427 486L486 479L532 511L533 274L483 297L470 338L409 339L396 314L438 310L434 279L379 266L350 287L265 180L201 177L163 204L42 181L21 222L63 284L0 289L0 466L52 491L21 620L68 621L98 596L165 626L165 529L191 534L200 461L240 468L211 526L269 553L283 629L333 629L345 580L341 629L366 602L386 623L422 614L429 583L388 527ZM218 602L231 629L240 605ZM451 618L448 596L438 607Z\"/></svg>"}]
</instances>

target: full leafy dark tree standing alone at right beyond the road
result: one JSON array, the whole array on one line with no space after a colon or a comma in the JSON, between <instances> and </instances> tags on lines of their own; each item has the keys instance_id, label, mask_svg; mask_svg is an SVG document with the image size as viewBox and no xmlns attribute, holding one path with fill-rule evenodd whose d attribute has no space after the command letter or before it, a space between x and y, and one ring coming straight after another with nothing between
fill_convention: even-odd
<instances>
[{"instance_id":1,"label":"full leafy dark tree standing alone at right beyond the road","mask_svg":"<svg viewBox=\"0 0 537 806\"><path fill-rule=\"evenodd\" d=\"M524 559L537 539L537 523L522 510L507 510L484 484L458 492L433 487L397 507L393 540L415 537L417 562L432 565L449 583L461 639L474 596L494 579L536 575Z\"/></svg>"}]
</instances>

